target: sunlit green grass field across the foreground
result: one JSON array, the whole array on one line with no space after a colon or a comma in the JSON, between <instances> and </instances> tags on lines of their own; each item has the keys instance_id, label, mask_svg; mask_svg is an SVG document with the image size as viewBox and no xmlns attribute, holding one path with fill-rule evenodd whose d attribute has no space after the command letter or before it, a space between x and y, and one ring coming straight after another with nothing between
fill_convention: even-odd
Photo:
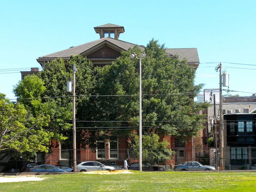
<instances>
[{"instance_id":1,"label":"sunlit green grass field across the foreground","mask_svg":"<svg viewBox=\"0 0 256 192\"><path fill-rule=\"evenodd\" d=\"M41 175L41 181L0 183L0 191L232 191L256 190L256 172L139 172Z\"/></svg>"}]
</instances>

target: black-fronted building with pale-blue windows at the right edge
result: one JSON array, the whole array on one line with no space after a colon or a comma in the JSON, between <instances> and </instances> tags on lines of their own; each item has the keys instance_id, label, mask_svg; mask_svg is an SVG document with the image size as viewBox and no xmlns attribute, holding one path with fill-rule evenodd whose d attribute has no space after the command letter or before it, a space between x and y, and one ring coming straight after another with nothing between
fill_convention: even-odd
<instances>
[{"instance_id":1,"label":"black-fronted building with pale-blue windows at the right edge","mask_svg":"<svg viewBox=\"0 0 256 192\"><path fill-rule=\"evenodd\" d=\"M224 115L226 169L256 168L256 113Z\"/></svg>"}]
</instances>

